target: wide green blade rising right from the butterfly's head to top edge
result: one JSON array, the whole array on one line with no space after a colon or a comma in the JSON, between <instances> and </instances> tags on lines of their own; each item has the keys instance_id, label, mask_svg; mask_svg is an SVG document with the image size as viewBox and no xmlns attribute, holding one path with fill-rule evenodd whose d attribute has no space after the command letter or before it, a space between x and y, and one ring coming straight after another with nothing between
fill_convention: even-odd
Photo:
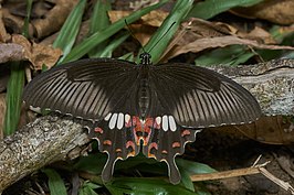
<instances>
[{"instance_id":1,"label":"wide green blade rising right from the butterfly's head to top edge","mask_svg":"<svg viewBox=\"0 0 294 195\"><path fill-rule=\"evenodd\" d=\"M180 22L186 18L191 9L193 0L176 1L170 14L165 19L160 28L156 31L144 50L153 56L153 63L157 63L165 52L167 45L178 30ZM158 44L159 43L159 44ZM137 58L137 62L139 57Z\"/></svg>"}]
</instances>

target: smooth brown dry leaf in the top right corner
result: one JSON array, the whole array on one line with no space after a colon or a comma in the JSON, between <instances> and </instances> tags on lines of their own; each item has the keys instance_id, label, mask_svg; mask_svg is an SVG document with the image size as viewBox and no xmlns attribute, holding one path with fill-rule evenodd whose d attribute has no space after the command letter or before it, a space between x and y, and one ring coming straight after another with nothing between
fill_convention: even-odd
<instances>
[{"instance_id":1,"label":"smooth brown dry leaf in the top right corner","mask_svg":"<svg viewBox=\"0 0 294 195\"><path fill-rule=\"evenodd\" d=\"M235 8L233 13L250 18L264 19L279 24L294 23L293 0L265 0L250 8Z\"/></svg>"}]
</instances>

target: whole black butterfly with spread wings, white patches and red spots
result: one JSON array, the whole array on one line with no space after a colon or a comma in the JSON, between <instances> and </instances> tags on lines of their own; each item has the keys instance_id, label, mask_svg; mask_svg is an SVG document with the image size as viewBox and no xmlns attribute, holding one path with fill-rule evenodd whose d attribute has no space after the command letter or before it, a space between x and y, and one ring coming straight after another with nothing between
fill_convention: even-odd
<instances>
[{"instance_id":1,"label":"whole black butterfly with spread wings, white patches and red spots","mask_svg":"<svg viewBox=\"0 0 294 195\"><path fill-rule=\"evenodd\" d=\"M114 58L71 62L30 82L27 105L70 113L93 122L90 137L108 154L103 181L112 178L115 162L137 155L164 161L169 181L181 180L175 158L202 128L256 120L255 98L232 79L185 63L153 64Z\"/></svg>"}]
</instances>

